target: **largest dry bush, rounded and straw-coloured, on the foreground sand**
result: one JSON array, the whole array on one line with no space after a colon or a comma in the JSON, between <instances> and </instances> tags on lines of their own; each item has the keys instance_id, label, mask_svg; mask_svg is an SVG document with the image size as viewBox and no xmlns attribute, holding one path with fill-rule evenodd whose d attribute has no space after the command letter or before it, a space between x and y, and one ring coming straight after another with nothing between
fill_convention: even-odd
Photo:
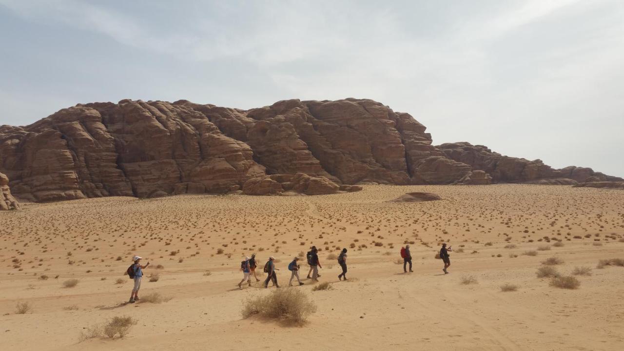
<instances>
[{"instance_id":1,"label":"largest dry bush, rounded and straw-coloured, on the foreground sand","mask_svg":"<svg viewBox=\"0 0 624 351\"><path fill-rule=\"evenodd\" d=\"M296 324L305 322L308 315L316 312L316 305L299 289L277 289L270 295L259 296L243 303L243 318L260 315Z\"/></svg>"}]
</instances>

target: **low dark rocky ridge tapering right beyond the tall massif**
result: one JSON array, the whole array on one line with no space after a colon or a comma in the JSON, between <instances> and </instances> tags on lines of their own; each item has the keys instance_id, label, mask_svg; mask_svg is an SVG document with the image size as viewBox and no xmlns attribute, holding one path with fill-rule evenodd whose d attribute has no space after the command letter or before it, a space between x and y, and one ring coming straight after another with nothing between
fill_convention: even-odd
<instances>
[{"instance_id":1,"label":"low dark rocky ridge tapering right beyond the tall massif","mask_svg":"<svg viewBox=\"0 0 624 351\"><path fill-rule=\"evenodd\" d=\"M591 168L565 167L553 169L542 160L529 161L517 157L503 156L492 152L488 147L472 145L469 142L447 143L437 146L446 157L457 162L469 165L472 169L484 171L492 176L497 183L525 183L540 179L572 179L585 182L592 179L622 181L619 177L612 177ZM538 182L539 184L539 182Z\"/></svg>"}]
</instances>

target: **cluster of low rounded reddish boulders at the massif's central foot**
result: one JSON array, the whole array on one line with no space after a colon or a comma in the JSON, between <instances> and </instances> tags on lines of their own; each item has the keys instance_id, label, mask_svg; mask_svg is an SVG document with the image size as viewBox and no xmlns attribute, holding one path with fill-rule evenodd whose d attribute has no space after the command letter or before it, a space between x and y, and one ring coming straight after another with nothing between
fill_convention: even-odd
<instances>
[{"instance_id":1,"label":"cluster of low rounded reddish boulders at the massif's central foot","mask_svg":"<svg viewBox=\"0 0 624 351\"><path fill-rule=\"evenodd\" d=\"M335 194L340 186L325 177L312 177L304 173L272 174L249 179L243 184L245 195L281 195L296 192L305 195ZM361 187L349 186L348 191Z\"/></svg>"}]
</instances>

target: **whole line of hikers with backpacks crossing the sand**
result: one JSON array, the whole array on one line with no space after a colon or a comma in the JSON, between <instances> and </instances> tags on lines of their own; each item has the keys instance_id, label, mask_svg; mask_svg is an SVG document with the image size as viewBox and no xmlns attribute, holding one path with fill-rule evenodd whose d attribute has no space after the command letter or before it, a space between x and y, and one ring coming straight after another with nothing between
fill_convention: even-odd
<instances>
[{"instance_id":1,"label":"whole line of hikers with backpacks crossing the sand","mask_svg":"<svg viewBox=\"0 0 624 351\"><path fill-rule=\"evenodd\" d=\"M451 259L449 255L449 251L451 247L446 247L446 243L442 244L442 248L439 252L439 257L444 262L444 274L448 274L448 268L451 266ZM409 245L405 245L401 247L401 257L403 259L403 272L407 273L407 266L409 264L409 272L414 272L412 270L412 255L409 251ZM141 280L143 277L143 270L146 269L150 264L147 262L146 265L141 265L140 261L143 257L134 256L132 260L134 264L130 265L127 269L127 274L130 278L134 279L134 287L132 288L132 294L130 294L130 303L134 304L139 300L139 289L141 287ZM318 274L318 269L323 268L321 266L321 261L318 259L318 249L316 246L311 247L310 251L306 254L307 263L310 266L310 270L308 271L308 279L311 279L313 282L318 282L318 278L321 277ZM338 255L338 264L340 268L343 270L341 274L338 275L338 280L347 280L347 249L342 249L340 254ZM260 282L258 279L258 275L256 275L256 267L258 267L258 262L256 260L256 254L252 254L251 257L245 257L245 260L241 262L240 270L243 272L243 280L238 283L238 287L243 289L243 284L246 282L249 286L251 286L251 276L256 279L256 282ZM301 269L299 264L299 257L293 258L293 260L288 264L288 270L291 271L290 280L288 281L288 286L293 286L293 279L297 279L299 285L303 285L301 279L299 277L299 270ZM269 282L273 282L275 287L280 287L277 282L277 275L275 273L275 257L269 257L269 260L266 262L263 272L266 273L266 279L264 282L265 289L268 288ZM311 274L311 276L310 276Z\"/></svg>"}]
</instances>

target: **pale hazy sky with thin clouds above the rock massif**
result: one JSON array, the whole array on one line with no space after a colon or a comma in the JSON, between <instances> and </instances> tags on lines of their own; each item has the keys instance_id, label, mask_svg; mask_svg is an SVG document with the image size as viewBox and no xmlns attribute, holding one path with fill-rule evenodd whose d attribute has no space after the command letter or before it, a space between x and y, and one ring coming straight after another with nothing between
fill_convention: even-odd
<instances>
[{"instance_id":1,"label":"pale hazy sky with thin clouds above the rock massif","mask_svg":"<svg viewBox=\"0 0 624 351\"><path fill-rule=\"evenodd\" d=\"M0 0L0 124L79 102L374 99L434 144L624 176L624 1Z\"/></svg>"}]
</instances>

